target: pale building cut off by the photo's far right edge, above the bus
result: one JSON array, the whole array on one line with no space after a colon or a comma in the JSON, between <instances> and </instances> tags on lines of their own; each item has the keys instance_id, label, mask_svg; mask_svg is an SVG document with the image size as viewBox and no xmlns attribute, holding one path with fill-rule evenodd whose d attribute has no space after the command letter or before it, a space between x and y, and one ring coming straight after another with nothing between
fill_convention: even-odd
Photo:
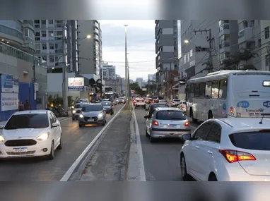
<instances>
[{"instance_id":1,"label":"pale building cut off by the photo's far right edge, above the bus","mask_svg":"<svg viewBox=\"0 0 270 201\"><path fill-rule=\"evenodd\" d=\"M261 21L261 44L258 46L262 48L262 71L270 71L270 57L269 57L269 52L270 52L270 47L269 47L269 42L270 42L270 32L269 32L269 27L270 27L270 20L260 20ZM259 41L259 39L258 39Z\"/></svg>"}]
</instances>

